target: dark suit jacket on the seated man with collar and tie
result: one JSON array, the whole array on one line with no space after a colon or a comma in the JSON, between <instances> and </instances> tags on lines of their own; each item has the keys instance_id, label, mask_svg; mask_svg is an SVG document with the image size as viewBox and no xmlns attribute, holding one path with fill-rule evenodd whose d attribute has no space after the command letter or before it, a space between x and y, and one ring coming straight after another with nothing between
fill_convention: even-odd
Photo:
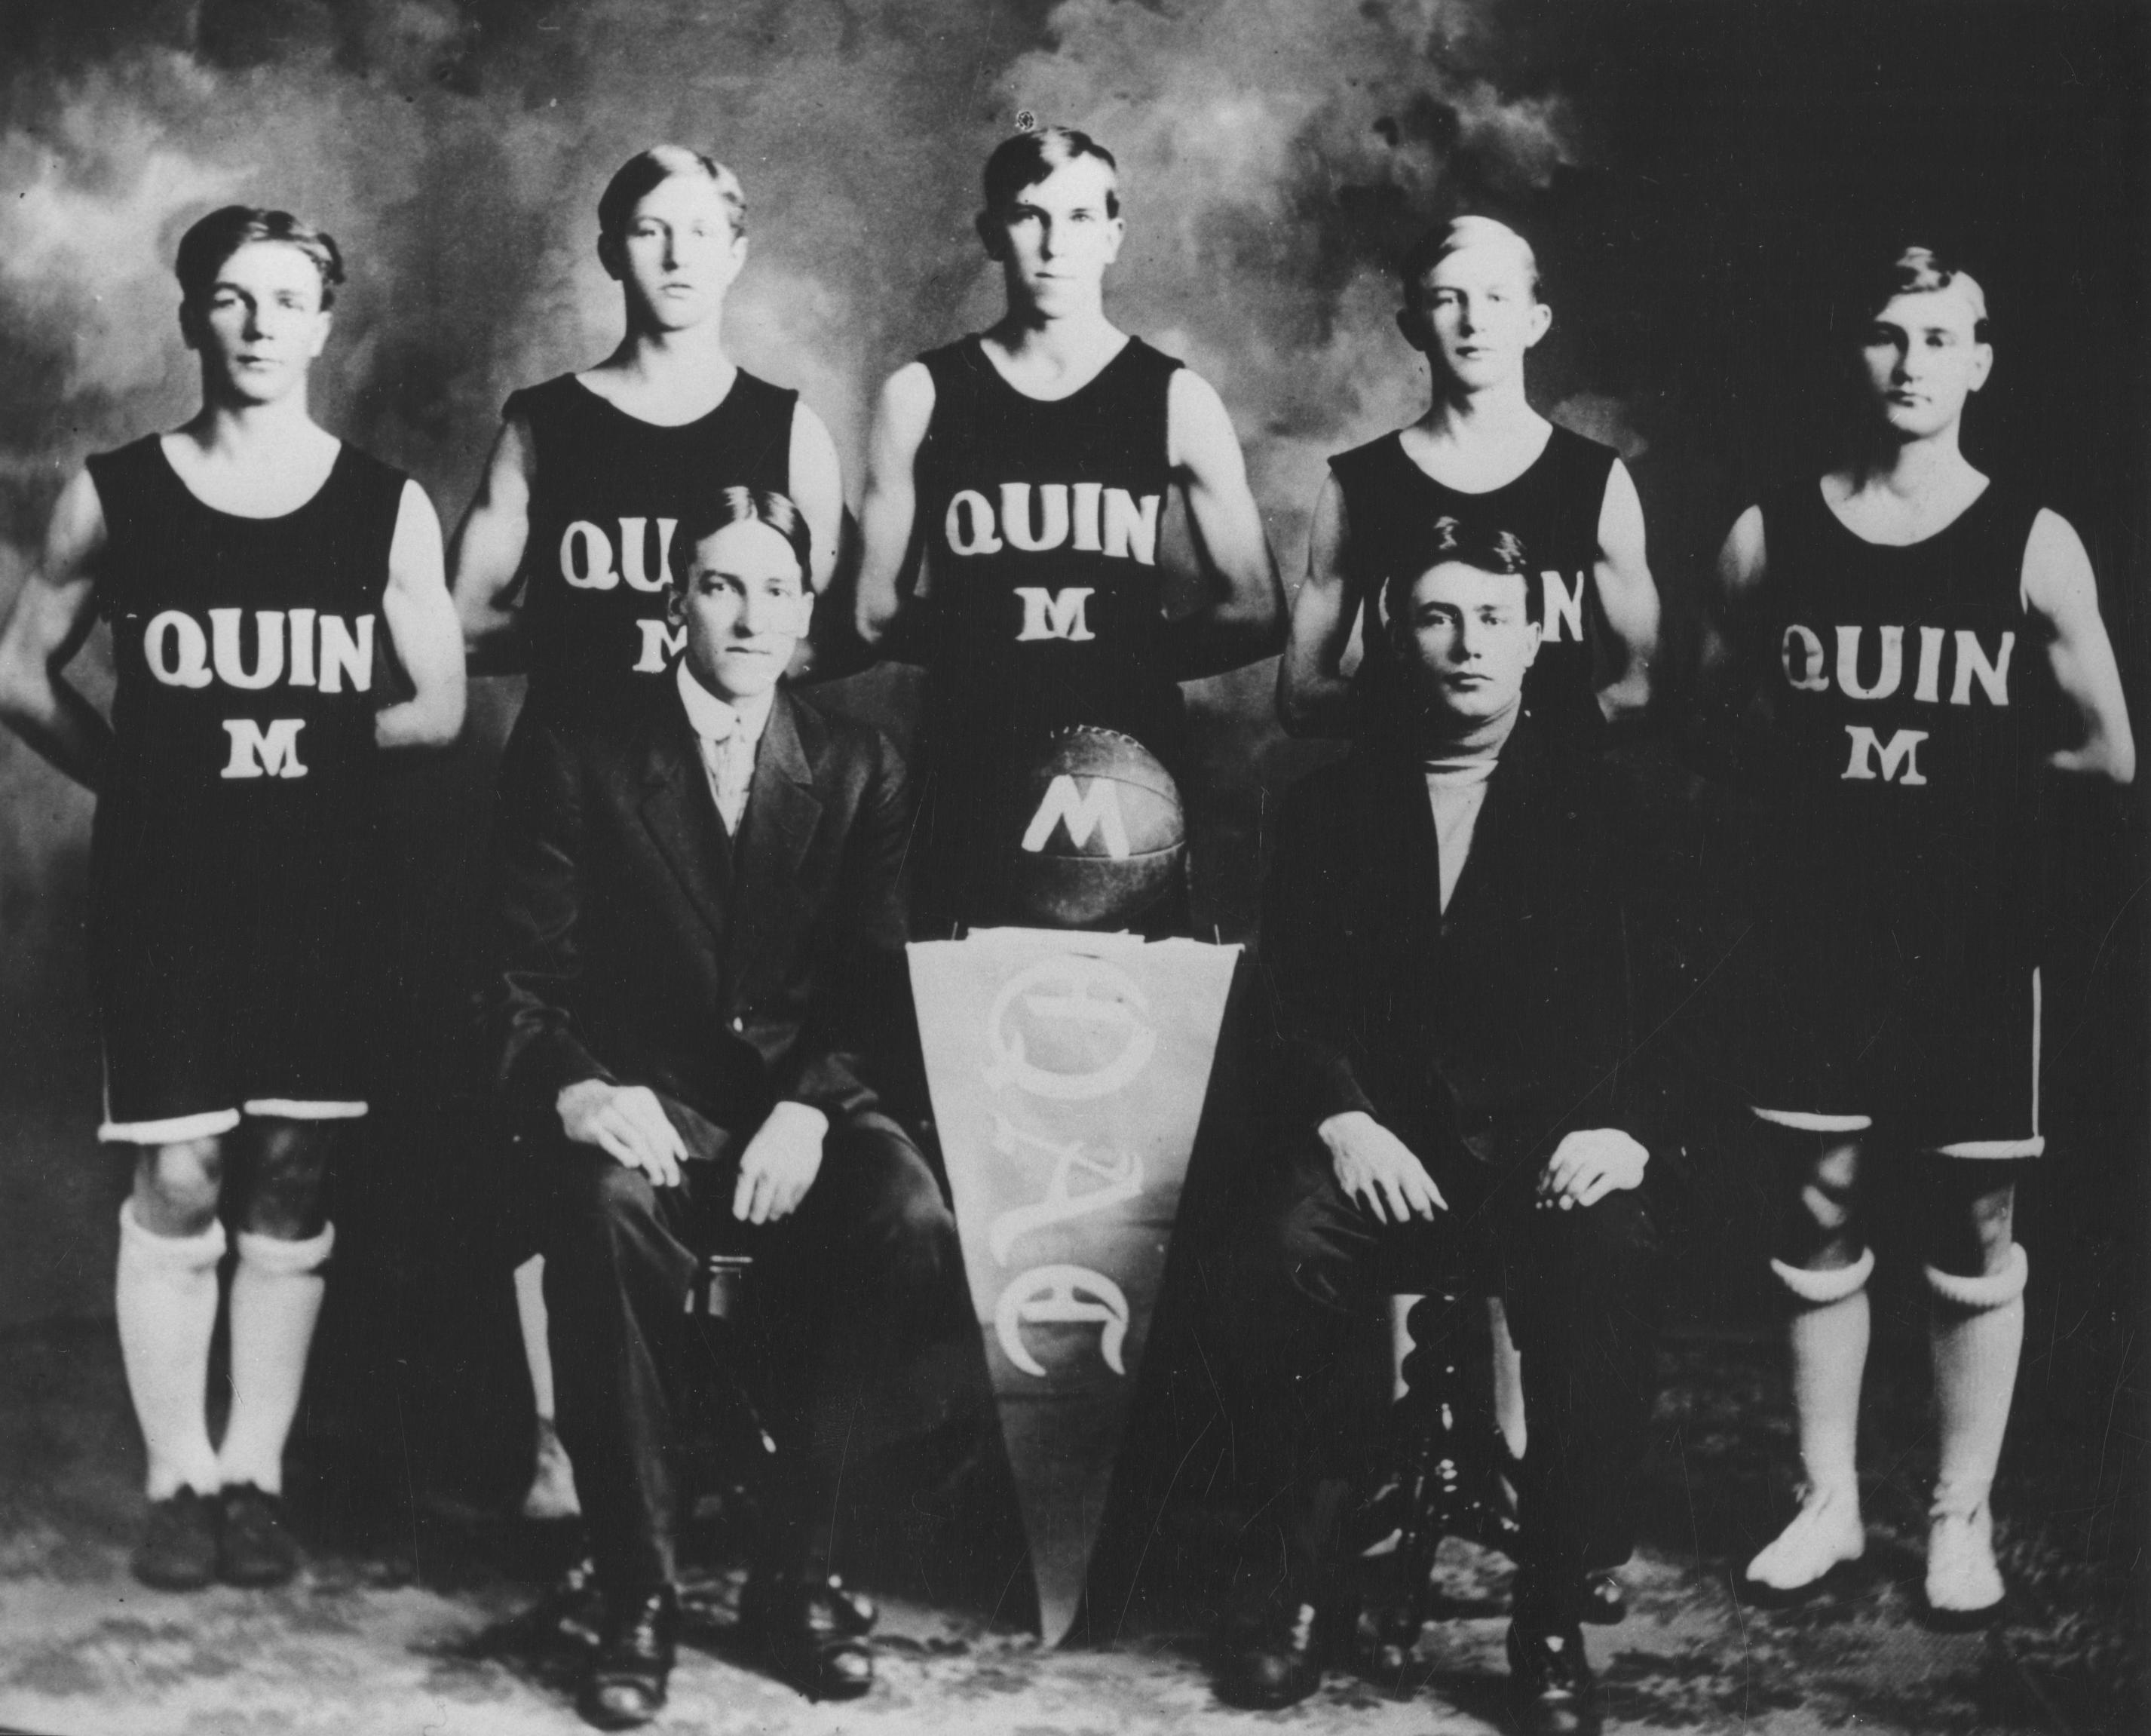
<instances>
[{"instance_id":1,"label":"dark suit jacket on the seated man with collar and tie","mask_svg":"<svg viewBox=\"0 0 2151 1736\"><path fill-rule=\"evenodd\" d=\"M733 1136L785 1097L832 1121L873 1108L910 826L888 740L785 686L738 839L669 693L611 727L527 718L495 837L512 1114L544 1129L585 1078L647 1084Z\"/></svg>"}]
</instances>

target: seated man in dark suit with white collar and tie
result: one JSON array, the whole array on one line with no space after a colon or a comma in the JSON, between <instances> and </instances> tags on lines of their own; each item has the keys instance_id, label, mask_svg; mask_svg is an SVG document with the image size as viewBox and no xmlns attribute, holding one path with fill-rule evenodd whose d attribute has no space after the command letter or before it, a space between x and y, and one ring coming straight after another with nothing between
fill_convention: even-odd
<instances>
[{"instance_id":1,"label":"seated man in dark suit with white collar and tie","mask_svg":"<svg viewBox=\"0 0 2151 1736\"><path fill-rule=\"evenodd\" d=\"M673 1661L697 1250L729 1215L761 1312L811 1321L744 1620L815 1695L873 1678L865 1605L828 1560L852 1411L959 1263L865 1063L875 987L901 983L903 764L779 684L813 602L792 501L727 488L675 546L675 680L611 725L518 731L497 841L501 1088L536 1134L559 1433L607 1598L583 1712L607 1727L652 1719Z\"/></svg>"}]
</instances>

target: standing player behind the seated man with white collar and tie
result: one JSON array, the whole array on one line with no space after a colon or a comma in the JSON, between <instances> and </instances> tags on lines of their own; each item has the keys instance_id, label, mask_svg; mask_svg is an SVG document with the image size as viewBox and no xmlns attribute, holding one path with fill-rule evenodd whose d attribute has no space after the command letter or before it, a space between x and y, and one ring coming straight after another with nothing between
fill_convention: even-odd
<instances>
[{"instance_id":1,"label":"standing player behind the seated man with white collar and tie","mask_svg":"<svg viewBox=\"0 0 2151 1736\"><path fill-rule=\"evenodd\" d=\"M529 671L533 716L604 718L669 691L682 630L667 615L680 521L721 488L798 501L813 585L828 585L843 521L837 447L796 392L725 353L725 295L746 265L746 194L678 144L630 157L598 198L598 258L626 331L596 368L508 398L486 475L452 549L456 607L480 675ZM542 1261L516 1271L538 1398L523 1510L579 1510L553 1426Z\"/></svg>"}]
</instances>

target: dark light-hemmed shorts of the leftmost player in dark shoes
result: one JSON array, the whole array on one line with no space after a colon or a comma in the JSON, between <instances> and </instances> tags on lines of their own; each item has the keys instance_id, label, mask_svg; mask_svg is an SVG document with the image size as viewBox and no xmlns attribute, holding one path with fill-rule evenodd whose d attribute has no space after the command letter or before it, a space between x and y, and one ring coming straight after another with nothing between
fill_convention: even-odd
<instances>
[{"instance_id":1,"label":"dark light-hemmed shorts of the leftmost player in dark shoes","mask_svg":"<svg viewBox=\"0 0 2151 1736\"><path fill-rule=\"evenodd\" d=\"M217 869L97 876L90 974L103 1035L101 1140L209 1138L243 1114L366 1114L379 940L361 852L308 873L243 856ZM252 869L252 871L250 871Z\"/></svg>"}]
</instances>

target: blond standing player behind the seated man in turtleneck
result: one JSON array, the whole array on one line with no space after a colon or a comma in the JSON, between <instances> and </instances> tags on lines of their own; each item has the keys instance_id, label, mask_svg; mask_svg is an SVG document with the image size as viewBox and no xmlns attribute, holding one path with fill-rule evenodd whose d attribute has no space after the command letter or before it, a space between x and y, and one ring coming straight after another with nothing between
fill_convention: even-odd
<instances>
[{"instance_id":1,"label":"blond standing player behind the seated man in turtleneck","mask_svg":"<svg viewBox=\"0 0 2151 1736\"><path fill-rule=\"evenodd\" d=\"M1493 217L1456 217L1405 260L1396 329L1426 357L1433 398L1409 428L1329 460L1293 598L1278 712L1295 736L1372 721L1394 673L1377 613L1437 518L1516 531L1540 561L1547 639L1525 684L1540 727L1581 746L1650 701L1658 592L1643 508L1622 460L1532 409L1523 364L1553 310L1538 260ZM1362 665L1342 660L1353 626Z\"/></svg>"}]
</instances>

